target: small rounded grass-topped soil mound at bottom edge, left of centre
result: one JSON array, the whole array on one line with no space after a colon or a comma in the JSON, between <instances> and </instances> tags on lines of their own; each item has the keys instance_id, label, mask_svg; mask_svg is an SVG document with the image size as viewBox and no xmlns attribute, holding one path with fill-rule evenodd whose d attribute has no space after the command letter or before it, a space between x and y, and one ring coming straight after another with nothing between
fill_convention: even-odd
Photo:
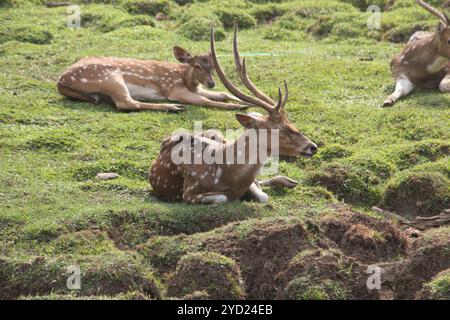
<instances>
[{"instance_id":1,"label":"small rounded grass-topped soil mound at bottom edge, left of centre","mask_svg":"<svg viewBox=\"0 0 450 320\"><path fill-rule=\"evenodd\" d=\"M168 295L188 298L243 299L245 290L239 267L232 259L212 252L183 256L169 282Z\"/></svg>"}]
</instances>

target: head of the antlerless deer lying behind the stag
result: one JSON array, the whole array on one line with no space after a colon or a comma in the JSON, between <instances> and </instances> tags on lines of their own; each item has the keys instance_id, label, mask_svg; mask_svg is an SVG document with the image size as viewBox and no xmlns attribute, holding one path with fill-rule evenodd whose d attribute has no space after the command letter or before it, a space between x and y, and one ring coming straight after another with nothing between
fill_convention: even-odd
<instances>
[{"instance_id":1,"label":"head of the antlerless deer lying behind the stag","mask_svg":"<svg viewBox=\"0 0 450 320\"><path fill-rule=\"evenodd\" d=\"M211 54L191 56L189 52L178 46L173 47L173 54L178 61L186 63L192 68L191 77L195 84L200 83L211 89L215 87L216 83L212 78L214 65Z\"/></svg>"}]
</instances>

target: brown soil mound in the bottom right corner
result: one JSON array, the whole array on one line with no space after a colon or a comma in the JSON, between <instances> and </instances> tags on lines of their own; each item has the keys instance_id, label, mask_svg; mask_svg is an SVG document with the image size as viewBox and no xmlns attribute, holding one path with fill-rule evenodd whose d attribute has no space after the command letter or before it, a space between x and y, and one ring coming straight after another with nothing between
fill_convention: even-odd
<instances>
[{"instance_id":1,"label":"brown soil mound in the bottom right corner","mask_svg":"<svg viewBox=\"0 0 450 320\"><path fill-rule=\"evenodd\" d=\"M437 273L450 268L450 228L426 232L414 244L414 253L397 272L395 297L413 299Z\"/></svg>"}]
</instances>

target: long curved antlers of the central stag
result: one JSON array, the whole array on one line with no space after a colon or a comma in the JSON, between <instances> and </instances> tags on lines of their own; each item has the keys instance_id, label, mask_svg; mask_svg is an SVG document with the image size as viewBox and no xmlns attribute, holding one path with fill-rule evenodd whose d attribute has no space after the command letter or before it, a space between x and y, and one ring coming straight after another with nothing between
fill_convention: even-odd
<instances>
[{"instance_id":1,"label":"long curved antlers of the central stag","mask_svg":"<svg viewBox=\"0 0 450 320\"><path fill-rule=\"evenodd\" d=\"M239 74L239 77L242 81L242 83L245 85L245 87L252 92L255 97L249 96L248 94L240 91L235 85L233 85L225 76L225 73L223 72L219 61L217 59L216 54L216 45L215 45L215 39L214 39L214 28L211 28L211 55L212 59L214 61L214 67L216 69L217 75L222 81L225 88L228 89L233 95L235 95L237 98L241 99L242 101L245 101L249 103L250 105L261 107L270 114L276 114L279 113L280 110L283 110L284 106L286 105L286 102L288 100L288 87L286 81L284 82L284 88L285 88L285 94L283 96L281 92L281 88L278 88L278 100L275 103L270 97L268 97L266 94L261 92L256 86L251 82L247 75L247 67L245 64L245 59L242 60L239 55L239 49L238 49L238 41L237 41L237 31L238 26L235 24L234 26L234 38L233 38L233 53L234 53L234 63L236 66L236 70Z\"/></svg>"}]
</instances>

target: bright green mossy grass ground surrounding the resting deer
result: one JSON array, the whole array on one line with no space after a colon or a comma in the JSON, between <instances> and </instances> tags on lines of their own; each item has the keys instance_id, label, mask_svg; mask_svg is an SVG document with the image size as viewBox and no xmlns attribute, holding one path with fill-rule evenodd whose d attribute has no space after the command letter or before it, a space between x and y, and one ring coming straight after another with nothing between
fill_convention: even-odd
<instances>
[{"instance_id":1,"label":"bright green mossy grass ground surrounding the resting deer","mask_svg":"<svg viewBox=\"0 0 450 320\"><path fill-rule=\"evenodd\" d=\"M0 261L10 270L0 274L1 292L66 295L62 280L35 288L30 279L57 281L66 264L79 263L92 275L81 295L134 297L138 281L162 288L164 296L167 277L154 268L175 270L173 264L185 253L176 241L182 234L252 218L240 225L245 238L253 218L315 220L339 200L373 214L372 205L414 196L403 187L411 176L437 186L439 192L425 199L430 208L448 206L450 96L418 90L393 108L379 107L393 89L389 60L400 42L436 23L413 0L387 8L381 30L367 29L365 1L167 0L151 7L138 0L92 1L81 5L79 30L66 27L66 8L47 8L45 2L0 1ZM170 19L156 21L156 11ZM194 120L205 129L237 129L235 112L190 106L181 114L123 113L60 96L56 79L88 55L174 61L173 45L207 52L212 21L221 34L222 64L236 80L230 42L234 19L242 23L240 47L249 55L252 79L271 96L287 80L289 117L319 145L319 153L282 161L280 174L301 183L293 190L268 190L266 205L160 202L152 196L146 171L161 140L178 128L192 130ZM100 171L120 177L99 181ZM417 191L429 190L422 186ZM146 250L134 252L147 241ZM42 258L39 266L50 267L33 267ZM29 272L15 272L18 265ZM115 266L118 271L109 274ZM98 288L99 278L120 279L121 285ZM305 297L342 298L335 288L327 282ZM155 292L143 294L155 297Z\"/></svg>"}]
</instances>

